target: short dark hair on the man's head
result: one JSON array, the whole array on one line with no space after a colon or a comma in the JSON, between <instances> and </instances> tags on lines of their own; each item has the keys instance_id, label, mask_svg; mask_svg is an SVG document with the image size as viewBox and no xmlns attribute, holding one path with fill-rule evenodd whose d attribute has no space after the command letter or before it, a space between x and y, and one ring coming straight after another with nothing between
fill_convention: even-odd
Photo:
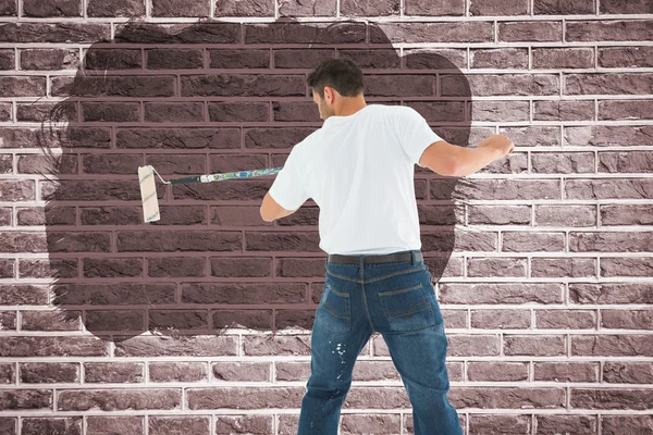
<instances>
[{"instance_id":1,"label":"short dark hair on the man's head","mask_svg":"<svg viewBox=\"0 0 653 435\"><path fill-rule=\"evenodd\" d=\"M330 86L343 97L356 97L364 89L362 71L349 58L326 59L306 77L309 87L324 98L324 86Z\"/></svg>"}]
</instances>

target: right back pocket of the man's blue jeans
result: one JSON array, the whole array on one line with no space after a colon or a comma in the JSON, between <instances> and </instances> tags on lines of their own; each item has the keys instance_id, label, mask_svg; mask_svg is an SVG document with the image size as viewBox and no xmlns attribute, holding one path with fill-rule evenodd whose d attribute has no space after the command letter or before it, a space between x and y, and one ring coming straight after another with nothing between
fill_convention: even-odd
<instances>
[{"instance_id":1,"label":"right back pocket of the man's blue jeans","mask_svg":"<svg viewBox=\"0 0 653 435\"><path fill-rule=\"evenodd\" d=\"M433 309L422 284L380 291L383 313L395 331L420 330L435 324Z\"/></svg>"}]
</instances>

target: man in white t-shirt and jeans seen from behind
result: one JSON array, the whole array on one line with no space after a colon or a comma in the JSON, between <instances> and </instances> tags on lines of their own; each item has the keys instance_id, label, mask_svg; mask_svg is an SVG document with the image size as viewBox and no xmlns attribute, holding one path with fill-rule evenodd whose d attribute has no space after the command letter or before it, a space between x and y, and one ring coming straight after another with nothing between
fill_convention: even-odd
<instances>
[{"instance_id":1,"label":"man in white t-shirt and jeans seen from behind","mask_svg":"<svg viewBox=\"0 0 653 435\"><path fill-rule=\"evenodd\" d=\"M447 339L420 249L415 164L469 175L513 151L492 135L446 142L414 109L367 104L362 72L328 59L307 77L322 127L297 144L261 204L266 222L308 199L320 208L326 279L311 334L298 435L336 435L354 363L373 332L387 345L412 406L416 435L461 435L446 398Z\"/></svg>"}]
</instances>

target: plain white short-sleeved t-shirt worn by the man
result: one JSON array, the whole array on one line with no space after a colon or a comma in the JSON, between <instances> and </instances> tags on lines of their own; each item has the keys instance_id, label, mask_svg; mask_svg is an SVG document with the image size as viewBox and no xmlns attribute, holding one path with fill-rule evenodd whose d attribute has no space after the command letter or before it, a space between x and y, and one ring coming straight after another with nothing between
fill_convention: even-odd
<instances>
[{"instance_id":1,"label":"plain white short-sleeved t-shirt worn by the man","mask_svg":"<svg viewBox=\"0 0 653 435\"><path fill-rule=\"evenodd\" d=\"M286 210L313 199L326 253L421 249L415 164L439 140L406 105L368 104L330 116L293 148L270 196Z\"/></svg>"}]
</instances>

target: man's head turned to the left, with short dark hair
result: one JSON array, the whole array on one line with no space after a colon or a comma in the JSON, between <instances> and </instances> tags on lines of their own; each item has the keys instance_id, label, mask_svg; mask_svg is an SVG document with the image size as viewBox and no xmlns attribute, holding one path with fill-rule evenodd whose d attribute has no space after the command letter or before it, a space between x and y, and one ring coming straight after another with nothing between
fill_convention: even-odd
<instances>
[{"instance_id":1,"label":"man's head turned to the left, with short dark hair","mask_svg":"<svg viewBox=\"0 0 653 435\"><path fill-rule=\"evenodd\" d=\"M338 114L352 100L365 103L362 71L349 58L322 61L306 82L312 89L313 101L318 104L322 120Z\"/></svg>"}]
</instances>

